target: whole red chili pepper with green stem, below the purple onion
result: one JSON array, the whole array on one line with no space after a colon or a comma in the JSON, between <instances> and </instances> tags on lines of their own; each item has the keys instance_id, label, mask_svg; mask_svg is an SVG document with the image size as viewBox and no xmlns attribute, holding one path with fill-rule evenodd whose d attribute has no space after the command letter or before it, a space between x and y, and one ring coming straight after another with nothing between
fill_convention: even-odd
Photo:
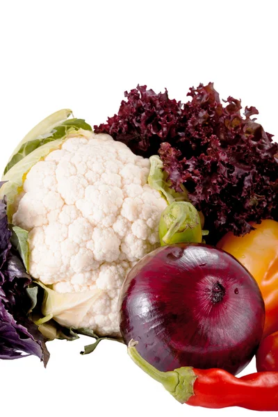
<instances>
[{"instance_id":1,"label":"whole red chili pepper with green stem, below the purple onion","mask_svg":"<svg viewBox=\"0 0 278 417\"><path fill-rule=\"evenodd\" d=\"M188 366L161 372L138 354L136 343L129 343L131 359L181 403L214 409L237 406L278 411L278 372L253 373L241 378L217 368L204 370Z\"/></svg>"}]
</instances>

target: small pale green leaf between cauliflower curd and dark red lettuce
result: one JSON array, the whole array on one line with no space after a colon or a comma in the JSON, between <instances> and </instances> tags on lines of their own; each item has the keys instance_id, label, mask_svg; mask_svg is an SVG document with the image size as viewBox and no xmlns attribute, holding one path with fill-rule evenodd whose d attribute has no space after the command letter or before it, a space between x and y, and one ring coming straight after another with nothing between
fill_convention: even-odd
<instances>
[{"instance_id":1,"label":"small pale green leaf between cauliflower curd and dark red lettuce","mask_svg":"<svg viewBox=\"0 0 278 417\"><path fill-rule=\"evenodd\" d=\"M171 182L167 179L167 173L163 170L161 158L158 155L153 155L149 158L149 162L151 163L148 177L149 186L158 190L168 204L188 202L188 193L183 185L181 185L181 193L177 193L171 188Z\"/></svg>"}]
</instances>

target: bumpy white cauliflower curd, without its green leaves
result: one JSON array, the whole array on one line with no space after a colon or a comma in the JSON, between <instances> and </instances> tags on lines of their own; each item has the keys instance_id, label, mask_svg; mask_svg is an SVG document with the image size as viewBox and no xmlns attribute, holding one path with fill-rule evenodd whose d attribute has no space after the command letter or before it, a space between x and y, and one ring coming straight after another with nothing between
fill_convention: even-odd
<instances>
[{"instance_id":1,"label":"bumpy white cauliflower curd, without its green leaves","mask_svg":"<svg viewBox=\"0 0 278 417\"><path fill-rule=\"evenodd\" d=\"M120 334L122 282L158 247L166 206L147 184L149 167L111 136L86 132L28 172L13 223L29 231L31 275L57 293L98 294L83 314L67 313L69 327Z\"/></svg>"}]
</instances>

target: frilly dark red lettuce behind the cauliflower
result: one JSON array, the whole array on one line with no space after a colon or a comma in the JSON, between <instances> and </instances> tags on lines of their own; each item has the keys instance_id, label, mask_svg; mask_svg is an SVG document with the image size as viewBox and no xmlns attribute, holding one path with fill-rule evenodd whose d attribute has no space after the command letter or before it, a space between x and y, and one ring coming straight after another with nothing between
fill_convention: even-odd
<instances>
[{"instance_id":1,"label":"frilly dark red lettuce behind the cauliflower","mask_svg":"<svg viewBox=\"0 0 278 417\"><path fill-rule=\"evenodd\" d=\"M227 231L252 229L251 221L278 220L278 144L252 116L240 113L240 100L222 104L213 83L190 88L191 101L169 99L146 86L124 93L117 115L96 133L109 133L142 156L159 154L172 188L188 191L202 211L207 241L216 243Z\"/></svg>"}]
</instances>

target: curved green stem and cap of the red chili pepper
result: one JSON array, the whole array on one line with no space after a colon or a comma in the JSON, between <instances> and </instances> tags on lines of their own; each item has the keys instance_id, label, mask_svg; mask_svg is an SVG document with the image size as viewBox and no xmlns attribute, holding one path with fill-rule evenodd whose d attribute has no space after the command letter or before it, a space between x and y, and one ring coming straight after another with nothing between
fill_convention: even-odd
<instances>
[{"instance_id":1,"label":"curved green stem and cap of the red chili pepper","mask_svg":"<svg viewBox=\"0 0 278 417\"><path fill-rule=\"evenodd\" d=\"M183 368L174 369L168 372L161 372L161 370L154 368L154 366L141 357L136 349L137 344L138 342L131 339L127 348L127 352L133 362L144 370L147 375L163 384L164 388L170 392L177 401L181 403L188 401L191 395L194 394L193 385L196 375L193 368L184 366Z\"/></svg>"}]
</instances>

